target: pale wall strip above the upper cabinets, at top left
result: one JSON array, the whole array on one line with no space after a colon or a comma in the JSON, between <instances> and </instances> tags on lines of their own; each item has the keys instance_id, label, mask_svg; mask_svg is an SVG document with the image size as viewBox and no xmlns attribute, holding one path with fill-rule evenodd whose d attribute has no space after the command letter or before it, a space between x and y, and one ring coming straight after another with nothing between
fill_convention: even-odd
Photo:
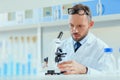
<instances>
[{"instance_id":1,"label":"pale wall strip above the upper cabinets, at top left","mask_svg":"<svg viewBox=\"0 0 120 80\"><path fill-rule=\"evenodd\" d=\"M0 0L0 13L93 0ZM21 6L22 5L22 6Z\"/></svg>"}]
</instances>

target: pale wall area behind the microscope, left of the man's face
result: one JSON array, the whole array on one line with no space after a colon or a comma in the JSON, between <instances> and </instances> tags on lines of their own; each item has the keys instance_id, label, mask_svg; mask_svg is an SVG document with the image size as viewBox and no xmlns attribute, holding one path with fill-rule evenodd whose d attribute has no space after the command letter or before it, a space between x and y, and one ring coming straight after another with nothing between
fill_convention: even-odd
<instances>
[{"instance_id":1,"label":"pale wall area behind the microscope, left of the man's face","mask_svg":"<svg viewBox=\"0 0 120 80\"><path fill-rule=\"evenodd\" d=\"M57 38L60 31L63 31L62 39L65 39L70 36L68 26L54 26L54 27L43 27L42 28L42 56L43 58L48 57L50 54L50 49L54 39ZM54 53L53 53L54 55Z\"/></svg>"}]
</instances>

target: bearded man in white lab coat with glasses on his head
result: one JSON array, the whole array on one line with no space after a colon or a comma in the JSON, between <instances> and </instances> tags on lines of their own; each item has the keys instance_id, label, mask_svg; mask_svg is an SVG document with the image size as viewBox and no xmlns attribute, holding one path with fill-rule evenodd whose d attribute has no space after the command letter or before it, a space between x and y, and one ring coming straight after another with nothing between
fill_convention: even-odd
<instances>
[{"instance_id":1,"label":"bearded man in white lab coat with glasses on his head","mask_svg":"<svg viewBox=\"0 0 120 80\"><path fill-rule=\"evenodd\" d=\"M102 59L104 48L108 46L89 32L94 25L89 7L77 4L68 9L68 14L72 37L61 44L67 55L58 68L64 74L96 74L104 71Z\"/></svg>"}]
</instances>

